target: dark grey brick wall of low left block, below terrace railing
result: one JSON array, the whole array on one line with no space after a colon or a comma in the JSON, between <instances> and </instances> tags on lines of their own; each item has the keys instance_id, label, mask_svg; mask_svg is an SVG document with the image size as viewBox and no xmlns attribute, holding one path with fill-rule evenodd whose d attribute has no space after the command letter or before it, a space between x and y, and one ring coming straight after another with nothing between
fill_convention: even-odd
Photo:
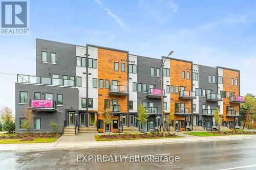
<instances>
[{"instance_id":1,"label":"dark grey brick wall of low left block, below terrace railing","mask_svg":"<svg viewBox=\"0 0 256 170\"><path fill-rule=\"evenodd\" d=\"M34 117L41 118L41 131L34 131L34 127L32 127L30 131L34 133L52 132L52 127L49 123L50 120L61 125L62 127L63 122L66 119L66 111L67 110L77 111L78 109L78 89L77 88L15 83L16 133L24 132L24 131L19 131L19 117L24 117L25 108L28 107L28 105L19 104L19 91L28 91L29 99L34 99L34 92L40 92L41 99L45 98L45 92L53 93L54 101L57 101L57 94L63 94L63 106L57 106L56 112L35 113ZM60 132L61 132L61 129L60 129Z\"/></svg>"}]
</instances>

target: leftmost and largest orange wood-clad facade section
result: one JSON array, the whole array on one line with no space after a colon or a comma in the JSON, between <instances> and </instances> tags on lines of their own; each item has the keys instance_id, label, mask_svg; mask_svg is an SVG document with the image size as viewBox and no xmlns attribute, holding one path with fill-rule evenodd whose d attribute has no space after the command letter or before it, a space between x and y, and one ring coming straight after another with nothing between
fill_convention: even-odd
<instances>
[{"instance_id":1,"label":"leftmost and largest orange wood-clad facade section","mask_svg":"<svg viewBox=\"0 0 256 170\"><path fill-rule=\"evenodd\" d=\"M114 62L118 62L118 71L114 70ZM121 71L121 63L125 63L125 72ZM112 100L118 100L121 113L128 112L128 96L109 95L110 89L105 89L105 80L109 80L110 85L112 84L112 80L117 80L118 85L126 86L128 88L127 64L127 53L98 48L98 80L103 79L103 88L98 88L99 119L103 119L105 99L109 99L111 105ZM114 119L118 120L118 116L115 116ZM113 130L113 126L111 125L111 131L118 131L118 129Z\"/></svg>"}]
</instances>

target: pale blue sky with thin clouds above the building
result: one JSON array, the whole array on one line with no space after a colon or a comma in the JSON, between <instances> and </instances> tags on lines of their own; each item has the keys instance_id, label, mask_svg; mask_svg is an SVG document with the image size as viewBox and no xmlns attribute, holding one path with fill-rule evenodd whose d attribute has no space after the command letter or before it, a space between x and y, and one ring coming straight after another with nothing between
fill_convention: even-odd
<instances>
[{"instance_id":1,"label":"pale blue sky with thin clouds above the building","mask_svg":"<svg viewBox=\"0 0 256 170\"><path fill-rule=\"evenodd\" d=\"M96 44L241 70L256 94L256 1L30 1L30 35L0 36L0 72L35 75L35 38ZM0 74L0 107L15 109L16 76Z\"/></svg>"}]
</instances>

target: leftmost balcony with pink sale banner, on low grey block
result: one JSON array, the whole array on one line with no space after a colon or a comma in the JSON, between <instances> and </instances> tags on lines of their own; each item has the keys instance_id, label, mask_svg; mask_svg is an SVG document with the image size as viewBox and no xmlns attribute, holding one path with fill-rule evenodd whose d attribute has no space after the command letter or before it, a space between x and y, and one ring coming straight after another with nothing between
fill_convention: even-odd
<instances>
[{"instance_id":1,"label":"leftmost balcony with pink sale banner, on low grey block","mask_svg":"<svg viewBox=\"0 0 256 170\"><path fill-rule=\"evenodd\" d=\"M57 111L56 102L53 100L30 99L29 108L32 109L33 111L45 111L45 112Z\"/></svg>"}]
</instances>

